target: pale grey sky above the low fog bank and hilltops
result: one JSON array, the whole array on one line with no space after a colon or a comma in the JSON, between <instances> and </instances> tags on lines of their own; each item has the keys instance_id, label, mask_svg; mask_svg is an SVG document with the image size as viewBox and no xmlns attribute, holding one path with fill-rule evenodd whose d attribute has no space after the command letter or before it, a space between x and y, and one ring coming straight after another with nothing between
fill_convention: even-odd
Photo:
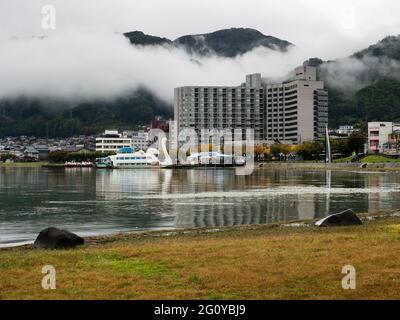
<instances>
[{"instance_id":1,"label":"pale grey sky above the low fog bank and hilltops","mask_svg":"<svg viewBox=\"0 0 400 320\"><path fill-rule=\"evenodd\" d=\"M1 0L0 33L41 29L41 7L57 9L57 31L143 30L176 38L228 27L251 27L333 59L400 33L398 0Z\"/></svg>"}]
</instances>

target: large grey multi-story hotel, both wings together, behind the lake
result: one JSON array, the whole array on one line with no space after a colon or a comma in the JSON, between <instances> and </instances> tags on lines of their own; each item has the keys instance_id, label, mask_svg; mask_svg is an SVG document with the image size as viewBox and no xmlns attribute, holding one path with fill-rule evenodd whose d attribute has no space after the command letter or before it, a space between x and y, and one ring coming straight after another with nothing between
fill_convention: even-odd
<instances>
[{"instance_id":1,"label":"large grey multi-story hotel, both wings together, behind the lake","mask_svg":"<svg viewBox=\"0 0 400 320\"><path fill-rule=\"evenodd\" d=\"M271 84L261 74L237 87L175 89L177 129L254 130L256 142L301 143L324 136L328 93L315 67L299 67L289 80Z\"/></svg>"}]
</instances>

